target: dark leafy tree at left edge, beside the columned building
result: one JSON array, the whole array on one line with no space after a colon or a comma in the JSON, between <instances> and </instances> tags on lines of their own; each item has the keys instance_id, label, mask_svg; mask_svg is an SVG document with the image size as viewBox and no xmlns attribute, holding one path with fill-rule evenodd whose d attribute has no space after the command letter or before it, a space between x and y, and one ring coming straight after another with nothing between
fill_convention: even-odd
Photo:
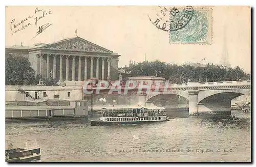
<instances>
[{"instance_id":1,"label":"dark leafy tree at left edge, beside the columned building","mask_svg":"<svg viewBox=\"0 0 256 167\"><path fill-rule=\"evenodd\" d=\"M5 63L6 84L24 85L34 83L35 71L27 58L6 54Z\"/></svg>"}]
</instances>

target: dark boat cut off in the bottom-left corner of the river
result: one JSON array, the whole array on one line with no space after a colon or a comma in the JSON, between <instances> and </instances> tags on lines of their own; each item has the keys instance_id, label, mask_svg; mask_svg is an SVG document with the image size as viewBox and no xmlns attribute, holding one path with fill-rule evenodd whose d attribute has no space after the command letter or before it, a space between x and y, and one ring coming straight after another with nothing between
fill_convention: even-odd
<instances>
[{"instance_id":1,"label":"dark boat cut off in the bottom-left corner of the river","mask_svg":"<svg viewBox=\"0 0 256 167\"><path fill-rule=\"evenodd\" d=\"M7 141L8 148L5 150L6 162L31 162L41 159L41 148L39 146L30 148L13 148Z\"/></svg>"}]
</instances>

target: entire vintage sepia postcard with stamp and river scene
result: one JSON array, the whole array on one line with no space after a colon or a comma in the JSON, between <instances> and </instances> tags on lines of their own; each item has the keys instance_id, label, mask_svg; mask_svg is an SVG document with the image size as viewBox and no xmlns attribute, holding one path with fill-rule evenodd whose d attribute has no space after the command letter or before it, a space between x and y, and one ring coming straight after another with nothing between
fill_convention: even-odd
<instances>
[{"instance_id":1,"label":"entire vintage sepia postcard with stamp and river scene","mask_svg":"<svg viewBox=\"0 0 256 167\"><path fill-rule=\"evenodd\" d=\"M7 6L6 162L251 162L249 6Z\"/></svg>"}]
</instances>

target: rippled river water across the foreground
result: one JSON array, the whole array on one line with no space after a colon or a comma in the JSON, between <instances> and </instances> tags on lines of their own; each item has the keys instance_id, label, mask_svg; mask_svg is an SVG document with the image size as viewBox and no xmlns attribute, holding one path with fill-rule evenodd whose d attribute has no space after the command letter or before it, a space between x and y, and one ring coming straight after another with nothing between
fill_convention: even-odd
<instances>
[{"instance_id":1,"label":"rippled river water across the foreground","mask_svg":"<svg viewBox=\"0 0 256 167\"><path fill-rule=\"evenodd\" d=\"M250 114L243 121L197 117L90 126L90 120L6 124L14 147L41 147L41 161L250 161ZM207 150L208 149L208 150ZM225 149L225 150L224 150Z\"/></svg>"}]
</instances>

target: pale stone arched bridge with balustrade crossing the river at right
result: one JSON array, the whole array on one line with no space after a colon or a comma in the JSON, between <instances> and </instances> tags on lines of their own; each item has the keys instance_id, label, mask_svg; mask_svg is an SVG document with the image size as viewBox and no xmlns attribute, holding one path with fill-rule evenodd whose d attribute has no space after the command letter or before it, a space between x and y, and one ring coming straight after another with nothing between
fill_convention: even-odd
<instances>
[{"instance_id":1,"label":"pale stone arched bridge with balustrade crossing the river at right","mask_svg":"<svg viewBox=\"0 0 256 167\"><path fill-rule=\"evenodd\" d=\"M189 115L195 114L230 114L231 100L241 96L250 95L250 80L239 81L218 81L218 82L188 82L187 84L167 84L167 82L158 85L150 85L150 91L145 90L144 94L138 94L138 103L146 105L146 101L153 102L158 97L168 99L171 96L177 96L177 99L187 101ZM146 86L145 86L146 87ZM126 87L122 86L124 90ZM96 89L96 87L92 88ZM103 91L109 91L106 88ZM130 92L138 91L138 87ZM113 92L114 93L114 92ZM123 91L122 91L123 93ZM129 96L129 92L127 93ZM179 103L178 101L178 103Z\"/></svg>"}]
</instances>

